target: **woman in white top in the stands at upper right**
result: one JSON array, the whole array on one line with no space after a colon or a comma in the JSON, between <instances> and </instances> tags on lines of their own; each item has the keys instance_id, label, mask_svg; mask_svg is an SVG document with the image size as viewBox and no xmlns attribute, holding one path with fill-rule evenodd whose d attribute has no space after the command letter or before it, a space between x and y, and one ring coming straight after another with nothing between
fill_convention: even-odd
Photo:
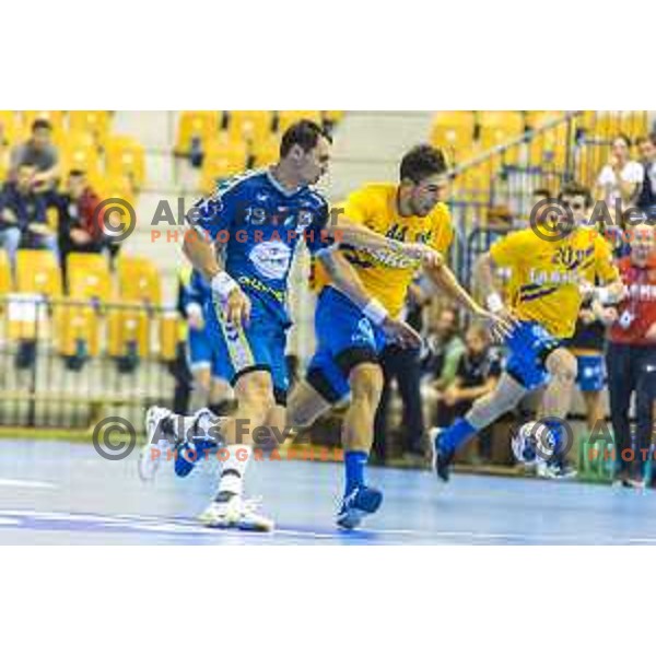
<instances>
[{"instance_id":1,"label":"woman in white top in the stands at upper right","mask_svg":"<svg viewBox=\"0 0 656 656\"><path fill-rule=\"evenodd\" d=\"M635 204L645 176L642 164L630 159L630 149L629 137L619 134L612 142L610 162L597 178L597 199L606 202L613 218L618 208L624 212Z\"/></svg>"}]
</instances>

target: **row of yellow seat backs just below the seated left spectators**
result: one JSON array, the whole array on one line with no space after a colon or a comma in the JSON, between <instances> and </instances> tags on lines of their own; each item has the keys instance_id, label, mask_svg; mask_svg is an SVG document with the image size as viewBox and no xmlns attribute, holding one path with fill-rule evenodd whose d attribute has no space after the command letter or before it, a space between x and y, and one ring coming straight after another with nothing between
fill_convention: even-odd
<instances>
[{"instance_id":1,"label":"row of yellow seat backs just below the seated left spectators","mask_svg":"<svg viewBox=\"0 0 656 656\"><path fill-rule=\"evenodd\" d=\"M162 283L153 262L145 257L121 255L117 261L117 286L102 254L71 253L67 259L68 297L99 303L160 305ZM49 250L19 250L12 277L7 253L0 250L0 294L11 292L62 296L61 269Z\"/></svg>"}]
</instances>

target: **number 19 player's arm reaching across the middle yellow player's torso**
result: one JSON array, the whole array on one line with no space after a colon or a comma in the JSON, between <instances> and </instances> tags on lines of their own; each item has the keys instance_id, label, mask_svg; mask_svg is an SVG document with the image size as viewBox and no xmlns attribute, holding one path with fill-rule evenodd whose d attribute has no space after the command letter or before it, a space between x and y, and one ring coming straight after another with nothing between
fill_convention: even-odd
<instances>
[{"instance_id":1,"label":"number 19 player's arm reaching across the middle yellow player's torso","mask_svg":"<svg viewBox=\"0 0 656 656\"><path fill-rule=\"evenodd\" d=\"M337 248L329 248L317 254L317 258L330 278L330 284L360 307L374 325L380 326L393 341L402 348L421 345L421 336L405 321L390 317L384 305L366 291L343 254Z\"/></svg>"}]
</instances>

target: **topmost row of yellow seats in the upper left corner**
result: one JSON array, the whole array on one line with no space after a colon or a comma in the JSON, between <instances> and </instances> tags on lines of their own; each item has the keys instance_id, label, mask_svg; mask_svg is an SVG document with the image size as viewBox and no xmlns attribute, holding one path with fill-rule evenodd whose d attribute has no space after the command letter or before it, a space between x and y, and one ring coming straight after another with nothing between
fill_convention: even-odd
<instances>
[{"instance_id":1,"label":"topmost row of yellow seats in the upper left corner","mask_svg":"<svg viewBox=\"0 0 656 656\"><path fill-rule=\"evenodd\" d=\"M32 124L46 119L52 126L56 142L67 132L87 134L98 147L103 147L112 129L112 113L106 110L63 112L61 109L27 109L25 112L0 110L0 126L3 140L10 144L25 141L30 137Z\"/></svg>"}]
</instances>

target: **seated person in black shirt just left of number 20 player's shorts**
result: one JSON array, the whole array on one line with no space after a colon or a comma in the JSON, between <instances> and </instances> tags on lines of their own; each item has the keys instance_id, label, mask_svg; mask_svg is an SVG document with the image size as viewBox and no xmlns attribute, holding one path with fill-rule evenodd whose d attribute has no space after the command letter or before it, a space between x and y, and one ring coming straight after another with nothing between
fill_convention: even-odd
<instances>
[{"instance_id":1,"label":"seated person in black shirt just left of number 20 player's shorts","mask_svg":"<svg viewBox=\"0 0 656 656\"><path fill-rule=\"evenodd\" d=\"M464 417L477 399L494 390L501 377L501 358L490 348L483 326L472 325L465 335L466 351L460 355L456 376L438 395L436 425L445 427ZM482 460L491 459L491 433L481 433L479 442Z\"/></svg>"}]
</instances>

